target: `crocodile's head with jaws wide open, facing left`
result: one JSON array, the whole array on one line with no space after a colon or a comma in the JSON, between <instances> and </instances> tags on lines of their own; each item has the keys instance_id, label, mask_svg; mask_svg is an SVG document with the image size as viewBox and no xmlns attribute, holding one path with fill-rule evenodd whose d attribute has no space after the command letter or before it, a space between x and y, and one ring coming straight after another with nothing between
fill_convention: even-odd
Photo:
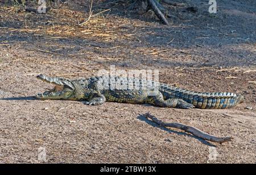
<instances>
[{"instance_id":1,"label":"crocodile's head with jaws wide open, facing left","mask_svg":"<svg viewBox=\"0 0 256 175\"><path fill-rule=\"evenodd\" d=\"M55 87L49 91L38 93L35 97L38 99L62 99L75 100L76 88L71 80L60 77L49 77L46 75L38 75L36 78L43 82L55 84Z\"/></svg>"}]
</instances>

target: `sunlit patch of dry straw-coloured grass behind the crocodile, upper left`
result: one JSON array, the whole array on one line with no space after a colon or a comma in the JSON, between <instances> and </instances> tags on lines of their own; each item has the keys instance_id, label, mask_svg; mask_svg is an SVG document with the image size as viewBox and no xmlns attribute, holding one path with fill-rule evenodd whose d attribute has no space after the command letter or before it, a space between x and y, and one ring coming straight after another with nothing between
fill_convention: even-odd
<instances>
[{"instance_id":1,"label":"sunlit patch of dry straw-coloured grass behind the crocodile, upper left","mask_svg":"<svg viewBox=\"0 0 256 175\"><path fill-rule=\"evenodd\" d=\"M67 6L51 9L47 14L30 14L26 11L16 13L16 7L0 8L1 14L3 14L2 19L9 19L10 23L18 19L23 24L24 28L5 28L10 32L27 32L47 37L80 37L81 39L105 42L114 42L117 39L133 39L134 33L120 35L121 29L114 27L112 22L108 20L109 10L103 10L94 15L90 12L91 14L87 17L86 12L74 11ZM14 19L13 16L16 18ZM120 23L123 23L123 20Z\"/></svg>"}]
</instances>

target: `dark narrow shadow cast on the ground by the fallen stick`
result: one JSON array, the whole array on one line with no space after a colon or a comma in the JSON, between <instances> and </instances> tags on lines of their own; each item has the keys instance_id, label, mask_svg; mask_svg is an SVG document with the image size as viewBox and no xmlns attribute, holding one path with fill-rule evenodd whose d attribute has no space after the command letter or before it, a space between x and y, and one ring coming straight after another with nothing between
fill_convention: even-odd
<instances>
[{"instance_id":1,"label":"dark narrow shadow cast on the ground by the fallen stick","mask_svg":"<svg viewBox=\"0 0 256 175\"><path fill-rule=\"evenodd\" d=\"M157 123L151 121L150 119L144 117L143 114L140 114L137 118L138 118L139 120L141 120L141 121L146 122L148 125L151 125L151 126L154 126L154 127L158 127L159 129L162 129L162 130L164 130L164 131L167 131L168 133L175 133L175 134L177 134L177 135L189 136L189 137L192 137L192 138L195 138L195 139L199 140L201 143L203 143L203 144L205 144L205 145L207 145L207 146L216 147L214 144L208 142L207 140L198 138L197 136L194 136L194 135L191 135L191 134L187 134L187 133L185 133L185 132L179 132L179 131L171 130L171 129L168 129L167 127L164 127L164 126L160 126L160 125L158 125Z\"/></svg>"}]
</instances>

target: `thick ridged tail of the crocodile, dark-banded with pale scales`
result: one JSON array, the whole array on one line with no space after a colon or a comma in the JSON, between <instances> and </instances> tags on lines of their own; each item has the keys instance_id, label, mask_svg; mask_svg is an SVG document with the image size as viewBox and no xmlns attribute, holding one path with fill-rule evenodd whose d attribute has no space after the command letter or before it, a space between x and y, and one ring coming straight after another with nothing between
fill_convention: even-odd
<instances>
[{"instance_id":1,"label":"thick ridged tail of the crocodile, dark-banded with pale scales","mask_svg":"<svg viewBox=\"0 0 256 175\"><path fill-rule=\"evenodd\" d=\"M194 92L161 84L164 99L182 99L200 109L227 109L242 103L244 97L230 92Z\"/></svg>"}]
</instances>

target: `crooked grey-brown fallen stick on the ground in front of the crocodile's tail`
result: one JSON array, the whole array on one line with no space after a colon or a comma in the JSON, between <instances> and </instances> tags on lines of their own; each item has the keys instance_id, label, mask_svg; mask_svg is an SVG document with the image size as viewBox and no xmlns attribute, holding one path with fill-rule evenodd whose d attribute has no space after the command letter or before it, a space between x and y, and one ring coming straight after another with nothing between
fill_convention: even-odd
<instances>
[{"instance_id":1,"label":"crooked grey-brown fallen stick on the ground in front of the crocodile's tail","mask_svg":"<svg viewBox=\"0 0 256 175\"><path fill-rule=\"evenodd\" d=\"M209 140L209 141L217 142L217 143L221 144L223 142L230 142L233 139L232 137L222 137L222 138L220 138L220 137L217 137L217 136L213 136L213 135L204 133L204 131L201 131L201 130L197 129L196 127L188 126L188 125L185 125L183 123L176 123L176 122L166 123L166 122L160 121L158 118L152 116L150 113L146 113L145 117L152 119L153 122L157 123L160 126L174 127L174 128L183 130L187 133L190 133L192 135L195 135L195 136L197 136L201 139L204 139L204 140Z\"/></svg>"}]
</instances>

